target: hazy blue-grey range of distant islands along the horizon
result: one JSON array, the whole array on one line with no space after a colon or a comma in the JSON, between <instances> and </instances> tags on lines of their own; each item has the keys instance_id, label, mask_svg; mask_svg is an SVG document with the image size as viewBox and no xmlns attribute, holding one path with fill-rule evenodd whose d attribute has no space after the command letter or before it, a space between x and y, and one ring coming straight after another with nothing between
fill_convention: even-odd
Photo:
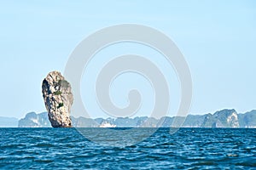
<instances>
[{"instance_id":1,"label":"hazy blue-grey range of distant islands along the horizon","mask_svg":"<svg viewBox=\"0 0 256 170\"><path fill-rule=\"evenodd\" d=\"M177 124L173 124L176 118ZM90 119L85 117L73 117L73 127L179 127L184 117L162 117L160 120L154 117L119 117ZM51 127L47 112L36 114L27 113L20 120L15 118L0 117L0 127ZM217 111L214 114L189 115L182 127L256 127L256 111L238 114L236 110Z\"/></svg>"}]
</instances>

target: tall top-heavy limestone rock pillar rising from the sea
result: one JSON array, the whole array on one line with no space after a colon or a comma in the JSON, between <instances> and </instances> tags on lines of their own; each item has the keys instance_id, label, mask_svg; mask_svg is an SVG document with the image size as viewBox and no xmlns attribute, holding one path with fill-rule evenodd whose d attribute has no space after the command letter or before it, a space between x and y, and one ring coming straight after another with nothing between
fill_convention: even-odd
<instances>
[{"instance_id":1,"label":"tall top-heavy limestone rock pillar rising from the sea","mask_svg":"<svg viewBox=\"0 0 256 170\"><path fill-rule=\"evenodd\" d=\"M73 94L70 83L58 71L52 71L42 85L44 104L52 127L72 127L70 118Z\"/></svg>"}]
</instances>

